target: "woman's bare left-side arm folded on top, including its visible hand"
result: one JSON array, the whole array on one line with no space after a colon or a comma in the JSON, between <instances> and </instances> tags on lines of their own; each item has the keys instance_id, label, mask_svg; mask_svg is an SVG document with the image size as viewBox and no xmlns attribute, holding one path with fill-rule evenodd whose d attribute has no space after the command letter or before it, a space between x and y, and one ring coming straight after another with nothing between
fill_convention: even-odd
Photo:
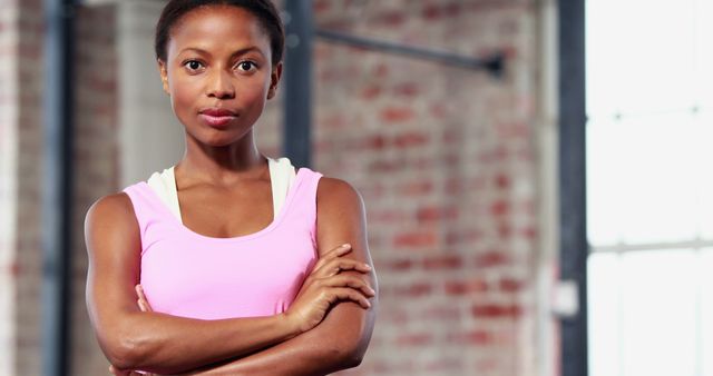
<instances>
[{"instance_id":1,"label":"woman's bare left-side arm folded on top, including its visible hand","mask_svg":"<svg viewBox=\"0 0 713 376\"><path fill-rule=\"evenodd\" d=\"M120 369L158 374L195 369L254 353L311 329L305 326L305 318L319 316L319 311L309 308L318 303L329 306L339 298L365 303L356 289L335 288L356 284L342 278L332 279L333 286L318 291L329 290L331 295L295 301L300 307L291 307L293 315L198 320L143 313L134 290L139 280L140 237L130 200L118 194L97 201L87 214L85 226L89 316L101 349Z\"/></svg>"}]
</instances>

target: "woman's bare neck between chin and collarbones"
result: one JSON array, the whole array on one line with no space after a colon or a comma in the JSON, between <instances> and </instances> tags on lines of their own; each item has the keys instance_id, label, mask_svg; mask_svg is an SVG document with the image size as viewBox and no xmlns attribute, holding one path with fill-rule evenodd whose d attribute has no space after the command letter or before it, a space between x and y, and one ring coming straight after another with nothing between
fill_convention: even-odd
<instances>
[{"instance_id":1,"label":"woman's bare neck between chin and collarbones","mask_svg":"<svg viewBox=\"0 0 713 376\"><path fill-rule=\"evenodd\" d=\"M201 144L186 135L186 152L176 170L191 177L189 180L229 185L262 177L265 166L265 157L257 150L251 130L238 141L221 147Z\"/></svg>"}]
</instances>

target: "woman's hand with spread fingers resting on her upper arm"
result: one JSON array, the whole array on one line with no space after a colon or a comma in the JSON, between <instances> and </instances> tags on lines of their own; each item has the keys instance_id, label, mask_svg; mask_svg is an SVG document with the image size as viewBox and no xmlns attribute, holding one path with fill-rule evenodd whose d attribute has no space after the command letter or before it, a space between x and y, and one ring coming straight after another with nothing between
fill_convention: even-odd
<instances>
[{"instance_id":1,"label":"woman's hand with spread fingers resting on her upper arm","mask_svg":"<svg viewBox=\"0 0 713 376\"><path fill-rule=\"evenodd\" d=\"M362 278L341 274L343 270L371 271L369 265L342 257L351 249L350 245L342 245L330 250L320 258L304 280L294 301L285 311L285 317L296 325L300 333L318 326L330 307L339 300L352 300L364 309L371 307L369 298L373 297L375 291Z\"/></svg>"}]
</instances>

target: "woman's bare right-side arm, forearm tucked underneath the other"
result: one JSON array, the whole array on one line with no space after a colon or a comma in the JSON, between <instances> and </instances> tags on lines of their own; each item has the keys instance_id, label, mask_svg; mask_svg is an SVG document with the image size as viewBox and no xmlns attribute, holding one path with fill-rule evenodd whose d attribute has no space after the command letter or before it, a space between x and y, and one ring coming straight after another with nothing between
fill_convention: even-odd
<instances>
[{"instance_id":1,"label":"woman's bare right-side arm, forearm tucked underneath the other","mask_svg":"<svg viewBox=\"0 0 713 376\"><path fill-rule=\"evenodd\" d=\"M372 265L361 197L341 180L322 178L318 190L320 254L344 241L353 249L345 257ZM362 278L378 291L373 271L342 274ZM314 329L201 375L325 375L355 367L361 363L373 332L378 298L370 300L370 309L351 301L339 303Z\"/></svg>"}]
</instances>

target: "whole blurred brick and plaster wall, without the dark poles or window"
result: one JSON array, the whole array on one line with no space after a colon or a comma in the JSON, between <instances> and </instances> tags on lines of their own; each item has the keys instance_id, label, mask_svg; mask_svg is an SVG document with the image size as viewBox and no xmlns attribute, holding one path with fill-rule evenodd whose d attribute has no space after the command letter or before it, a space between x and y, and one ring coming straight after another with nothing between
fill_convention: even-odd
<instances>
[{"instance_id":1,"label":"whole blurred brick and plaster wall, without the dark poles or window","mask_svg":"<svg viewBox=\"0 0 713 376\"><path fill-rule=\"evenodd\" d=\"M106 374L85 306L84 216L175 164L160 90L162 1L78 8L71 374ZM43 4L0 0L0 375L40 370ZM367 204L380 313L350 375L554 375L554 1L315 0L319 28L451 51L505 71L315 40L313 168ZM282 156L282 99L256 125ZM7 350L4 350L7 349Z\"/></svg>"}]
</instances>

